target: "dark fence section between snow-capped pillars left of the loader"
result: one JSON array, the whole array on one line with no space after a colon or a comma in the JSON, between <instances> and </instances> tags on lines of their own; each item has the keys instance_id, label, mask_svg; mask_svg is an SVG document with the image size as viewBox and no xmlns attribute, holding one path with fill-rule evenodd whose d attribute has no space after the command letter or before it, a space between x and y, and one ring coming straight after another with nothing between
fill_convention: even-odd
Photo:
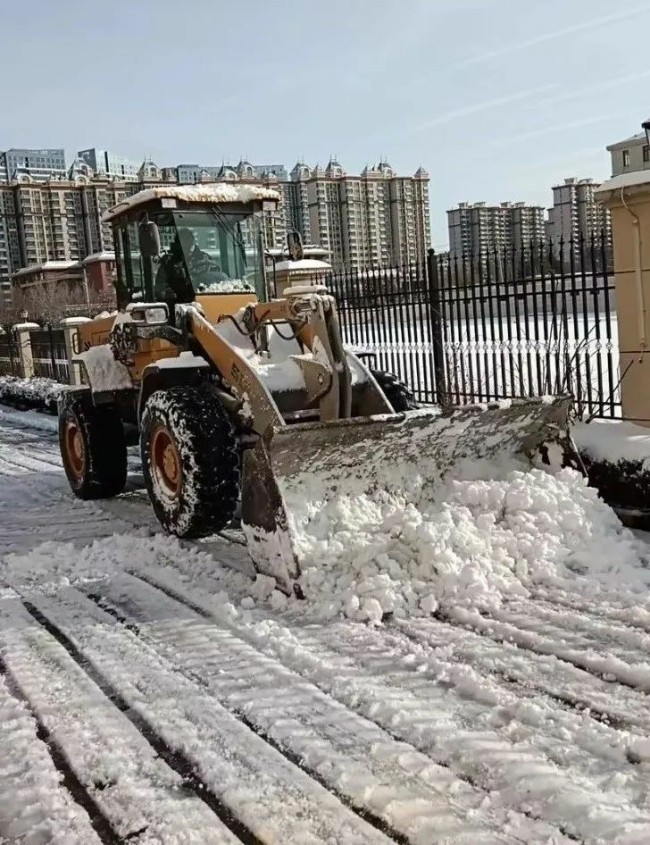
<instances>
[{"instance_id":1,"label":"dark fence section between snow-capped pillars left of the loader","mask_svg":"<svg viewBox=\"0 0 650 845\"><path fill-rule=\"evenodd\" d=\"M69 361L84 317L71 317L59 326L19 323L0 330L0 376L53 379L70 382Z\"/></svg>"}]
</instances>

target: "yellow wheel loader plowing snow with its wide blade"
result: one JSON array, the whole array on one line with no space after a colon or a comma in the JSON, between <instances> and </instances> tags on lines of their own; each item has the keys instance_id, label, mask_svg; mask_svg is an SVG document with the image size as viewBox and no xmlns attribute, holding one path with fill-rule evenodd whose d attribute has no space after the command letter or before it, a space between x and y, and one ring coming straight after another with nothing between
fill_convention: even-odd
<instances>
[{"instance_id":1,"label":"yellow wheel loader plowing snow with its wide blade","mask_svg":"<svg viewBox=\"0 0 650 845\"><path fill-rule=\"evenodd\" d=\"M127 445L139 441L163 528L197 538L239 515L255 568L290 593L300 555L289 488L318 489L321 502L343 477L370 490L386 484L377 459L399 464L396 478L405 461L435 467L432 483L504 451L530 462L566 437L570 398L408 410L401 386L344 347L326 287L269 295L264 214L278 199L249 185L169 185L107 212L118 311L80 327L80 385L61 399L59 438L83 499L123 492Z\"/></svg>"}]
</instances>

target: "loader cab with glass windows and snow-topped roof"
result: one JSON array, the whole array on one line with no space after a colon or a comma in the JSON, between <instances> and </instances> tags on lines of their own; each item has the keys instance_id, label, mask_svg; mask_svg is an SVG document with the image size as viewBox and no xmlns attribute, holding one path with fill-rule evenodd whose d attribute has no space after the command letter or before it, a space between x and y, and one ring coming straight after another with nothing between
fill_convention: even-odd
<instances>
[{"instance_id":1,"label":"loader cab with glass windows and snow-topped roof","mask_svg":"<svg viewBox=\"0 0 650 845\"><path fill-rule=\"evenodd\" d=\"M223 199L226 187L233 199ZM118 308L198 301L208 319L217 319L267 299L264 213L275 209L277 195L264 198L273 192L257 190L259 197L250 186L248 193L232 185L169 186L142 191L109 212Z\"/></svg>"}]
</instances>

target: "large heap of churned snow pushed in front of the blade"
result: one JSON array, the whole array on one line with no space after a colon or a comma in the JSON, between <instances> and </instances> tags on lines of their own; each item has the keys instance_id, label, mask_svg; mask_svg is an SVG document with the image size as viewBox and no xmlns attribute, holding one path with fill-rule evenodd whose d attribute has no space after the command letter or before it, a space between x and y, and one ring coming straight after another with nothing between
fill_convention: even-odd
<instances>
[{"instance_id":1,"label":"large heap of churned snow pushed in front of the blade","mask_svg":"<svg viewBox=\"0 0 650 845\"><path fill-rule=\"evenodd\" d=\"M491 608L533 582L576 574L650 582L638 541L572 470L451 480L435 499L417 485L402 495L330 499L303 488L285 497L300 585L321 618L377 623L439 605Z\"/></svg>"}]
</instances>

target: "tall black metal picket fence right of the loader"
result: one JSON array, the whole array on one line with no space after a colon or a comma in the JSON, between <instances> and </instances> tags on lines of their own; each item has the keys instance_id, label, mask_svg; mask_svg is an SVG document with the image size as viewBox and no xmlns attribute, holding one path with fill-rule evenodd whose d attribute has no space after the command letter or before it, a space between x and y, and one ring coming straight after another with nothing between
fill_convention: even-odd
<instances>
[{"instance_id":1,"label":"tall black metal picket fence right of the loader","mask_svg":"<svg viewBox=\"0 0 650 845\"><path fill-rule=\"evenodd\" d=\"M587 417L620 417L606 233L399 267L334 272L345 341L423 401L570 392Z\"/></svg>"}]
</instances>

